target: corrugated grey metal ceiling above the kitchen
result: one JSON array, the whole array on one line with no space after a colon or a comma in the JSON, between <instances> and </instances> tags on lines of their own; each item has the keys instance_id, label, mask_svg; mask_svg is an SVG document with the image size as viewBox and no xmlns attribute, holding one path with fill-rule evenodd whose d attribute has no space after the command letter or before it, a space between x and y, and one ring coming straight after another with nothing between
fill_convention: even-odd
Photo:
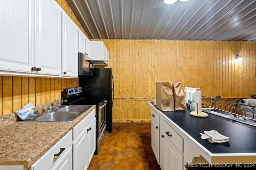
<instances>
[{"instance_id":1,"label":"corrugated grey metal ceiling above the kitchen","mask_svg":"<svg viewBox=\"0 0 256 170\"><path fill-rule=\"evenodd\" d=\"M66 0L92 39L256 41L256 0Z\"/></svg>"}]
</instances>

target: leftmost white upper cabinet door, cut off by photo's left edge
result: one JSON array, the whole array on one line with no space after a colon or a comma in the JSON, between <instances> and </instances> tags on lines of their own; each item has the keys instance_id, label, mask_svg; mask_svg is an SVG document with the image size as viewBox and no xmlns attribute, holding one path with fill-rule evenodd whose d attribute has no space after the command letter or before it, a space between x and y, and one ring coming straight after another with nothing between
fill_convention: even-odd
<instances>
[{"instance_id":1,"label":"leftmost white upper cabinet door, cut off by photo's left edge","mask_svg":"<svg viewBox=\"0 0 256 170\"><path fill-rule=\"evenodd\" d=\"M31 72L34 1L0 0L0 70Z\"/></svg>"}]
</instances>

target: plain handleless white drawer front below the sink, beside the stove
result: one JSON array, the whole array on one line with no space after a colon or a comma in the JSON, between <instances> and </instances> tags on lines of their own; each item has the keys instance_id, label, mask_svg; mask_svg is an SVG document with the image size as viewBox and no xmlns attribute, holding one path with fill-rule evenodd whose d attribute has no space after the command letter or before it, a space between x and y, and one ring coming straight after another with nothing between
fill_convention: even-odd
<instances>
[{"instance_id":1,"label":"plain handleless white drawer front below the sink, beside the stove","mask_svg":"<svg viewBox=\"0 0 256 170\"><path fill-rule=\"evenodd\" d=\"M73 129L73 141L80 135L80 133L89 125L92 119L95 117L94 109L91 113L89 113L82 121L80 121Z\"/></svg>"}]
</instances>

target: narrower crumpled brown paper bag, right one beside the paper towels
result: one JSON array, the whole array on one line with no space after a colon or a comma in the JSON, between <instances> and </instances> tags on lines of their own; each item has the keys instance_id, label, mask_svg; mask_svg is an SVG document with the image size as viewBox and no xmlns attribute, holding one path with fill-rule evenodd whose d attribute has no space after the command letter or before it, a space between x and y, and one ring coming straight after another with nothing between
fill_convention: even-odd
<instances>
[{"instance_id":1,"label":"narrower crumpled brown paper bag, right one beside the paper towels","mask_svg":"<svg viewBox=\"0 0 256 170\"><path fill-rule=\"evenodd\" d=\"M186 109L185 95L182 91L181 82L172 82L174 90L174 109L184 110Z\"/></svg>"}]
</instances>

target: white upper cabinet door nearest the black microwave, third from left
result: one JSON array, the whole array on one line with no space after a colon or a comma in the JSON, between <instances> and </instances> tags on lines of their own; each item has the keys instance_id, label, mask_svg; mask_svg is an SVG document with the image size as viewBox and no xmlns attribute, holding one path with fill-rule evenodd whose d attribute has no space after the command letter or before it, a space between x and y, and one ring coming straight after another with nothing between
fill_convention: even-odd
<instances>
[{"instance_id":1,"label":"white upper cabinet door nearest the black microwave, third from left","mask_svg":"<svg viewBox=\"0 0 256 170\"><path fill-rule=\"evenodd\" d=\"M62 76L78 76L78 27L62 11Z\"/></svg>"}]
</instances>

